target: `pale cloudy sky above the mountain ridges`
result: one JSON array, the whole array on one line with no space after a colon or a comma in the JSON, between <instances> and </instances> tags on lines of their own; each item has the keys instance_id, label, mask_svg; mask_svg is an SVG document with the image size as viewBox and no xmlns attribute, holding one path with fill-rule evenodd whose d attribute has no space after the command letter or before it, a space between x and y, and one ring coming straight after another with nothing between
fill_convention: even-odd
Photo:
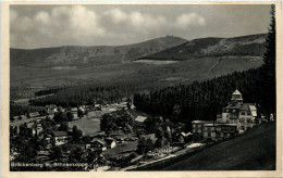
<instances>
[{"instance_id":1,"label":"pale cloudy sky above the mountain ridges","mask_svg":"<svg viewBox=\"0 0 283 178\"><path fill-rule=\"evenodd\" d=\"M270 5L10 5L10 47L121 46L268 33Z\"/></svg>"}]
</instances>

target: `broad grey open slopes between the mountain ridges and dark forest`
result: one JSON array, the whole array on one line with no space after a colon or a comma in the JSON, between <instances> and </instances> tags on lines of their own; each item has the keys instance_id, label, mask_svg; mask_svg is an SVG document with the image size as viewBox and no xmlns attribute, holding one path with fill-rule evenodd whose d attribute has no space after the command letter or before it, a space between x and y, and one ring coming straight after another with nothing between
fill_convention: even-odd
<instances>
[{"instance_id":1,"label":"broad grey open slopes between the mountain ridges and dark forest","mask_svg":"<svg viewBox=\"0 0 283 178\"><path fill-rule=\"evenodd\" d=\"M211 79L261 64L260 56L214 56L162 65L130 62L76 69L11 67L11 99L19 99L21 96L32 98L38 90L84 84L132 85L137 89L162 88L179 82Z\"/></svg>"}]
</instances>

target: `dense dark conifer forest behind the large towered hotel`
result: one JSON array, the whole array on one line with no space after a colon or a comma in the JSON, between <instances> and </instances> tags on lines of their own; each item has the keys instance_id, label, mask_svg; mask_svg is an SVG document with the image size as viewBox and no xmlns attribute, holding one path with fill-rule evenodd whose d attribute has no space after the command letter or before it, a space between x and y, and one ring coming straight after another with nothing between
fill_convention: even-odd
<instances>
[{"instance_id":1,"label":"dense dark conifer forest behind the large towered hotel","mask_svg":"<svg viewBox=\"0 0 283 178\"><path fill-rule=\"evenodd\" d=\"M194 119L216 119L234 90L237 88L244 102L257 101L254 92L260 68L213 78L204 82L179 85L148 93L136 93L137 110L169 117L172 120L190 123Z\"/></svg>"}]
</instances>

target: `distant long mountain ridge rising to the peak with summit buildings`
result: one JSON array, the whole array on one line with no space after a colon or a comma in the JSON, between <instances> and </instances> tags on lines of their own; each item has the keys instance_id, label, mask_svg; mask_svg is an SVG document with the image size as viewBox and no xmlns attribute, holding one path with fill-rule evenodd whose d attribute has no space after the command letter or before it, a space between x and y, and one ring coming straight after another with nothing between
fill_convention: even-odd
<instances>
[{"instance_id":1,"label":"distant long mountain ridge rising to the peak with summit buildings","mask_svg":"<svg viewBox=\"0 0 283 178\"><path fill-rule=\"evenodd\" d=\"M89 66L107 63L130 62L168 48L184 43L179 37L161 37L127 46L58 47L34 50L11 49L11 66L54 67Z\"/></svg>"}]
</instances>

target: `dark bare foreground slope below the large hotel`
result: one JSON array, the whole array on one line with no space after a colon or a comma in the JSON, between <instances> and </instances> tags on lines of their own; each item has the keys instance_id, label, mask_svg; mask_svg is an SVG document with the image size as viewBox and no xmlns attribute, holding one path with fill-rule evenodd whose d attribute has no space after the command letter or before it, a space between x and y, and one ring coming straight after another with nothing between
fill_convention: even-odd
<instances>
[{"instance_id":1,"label":"dark bare foreground slope below the large hotel","mask_svg":"<svg viewBox=\"0 0 283 178\"><path fill-rule=\"evenodd\" d=\"M163 170L274 170L275 123L268 123Z\"/></svg>"}]
</instances>

